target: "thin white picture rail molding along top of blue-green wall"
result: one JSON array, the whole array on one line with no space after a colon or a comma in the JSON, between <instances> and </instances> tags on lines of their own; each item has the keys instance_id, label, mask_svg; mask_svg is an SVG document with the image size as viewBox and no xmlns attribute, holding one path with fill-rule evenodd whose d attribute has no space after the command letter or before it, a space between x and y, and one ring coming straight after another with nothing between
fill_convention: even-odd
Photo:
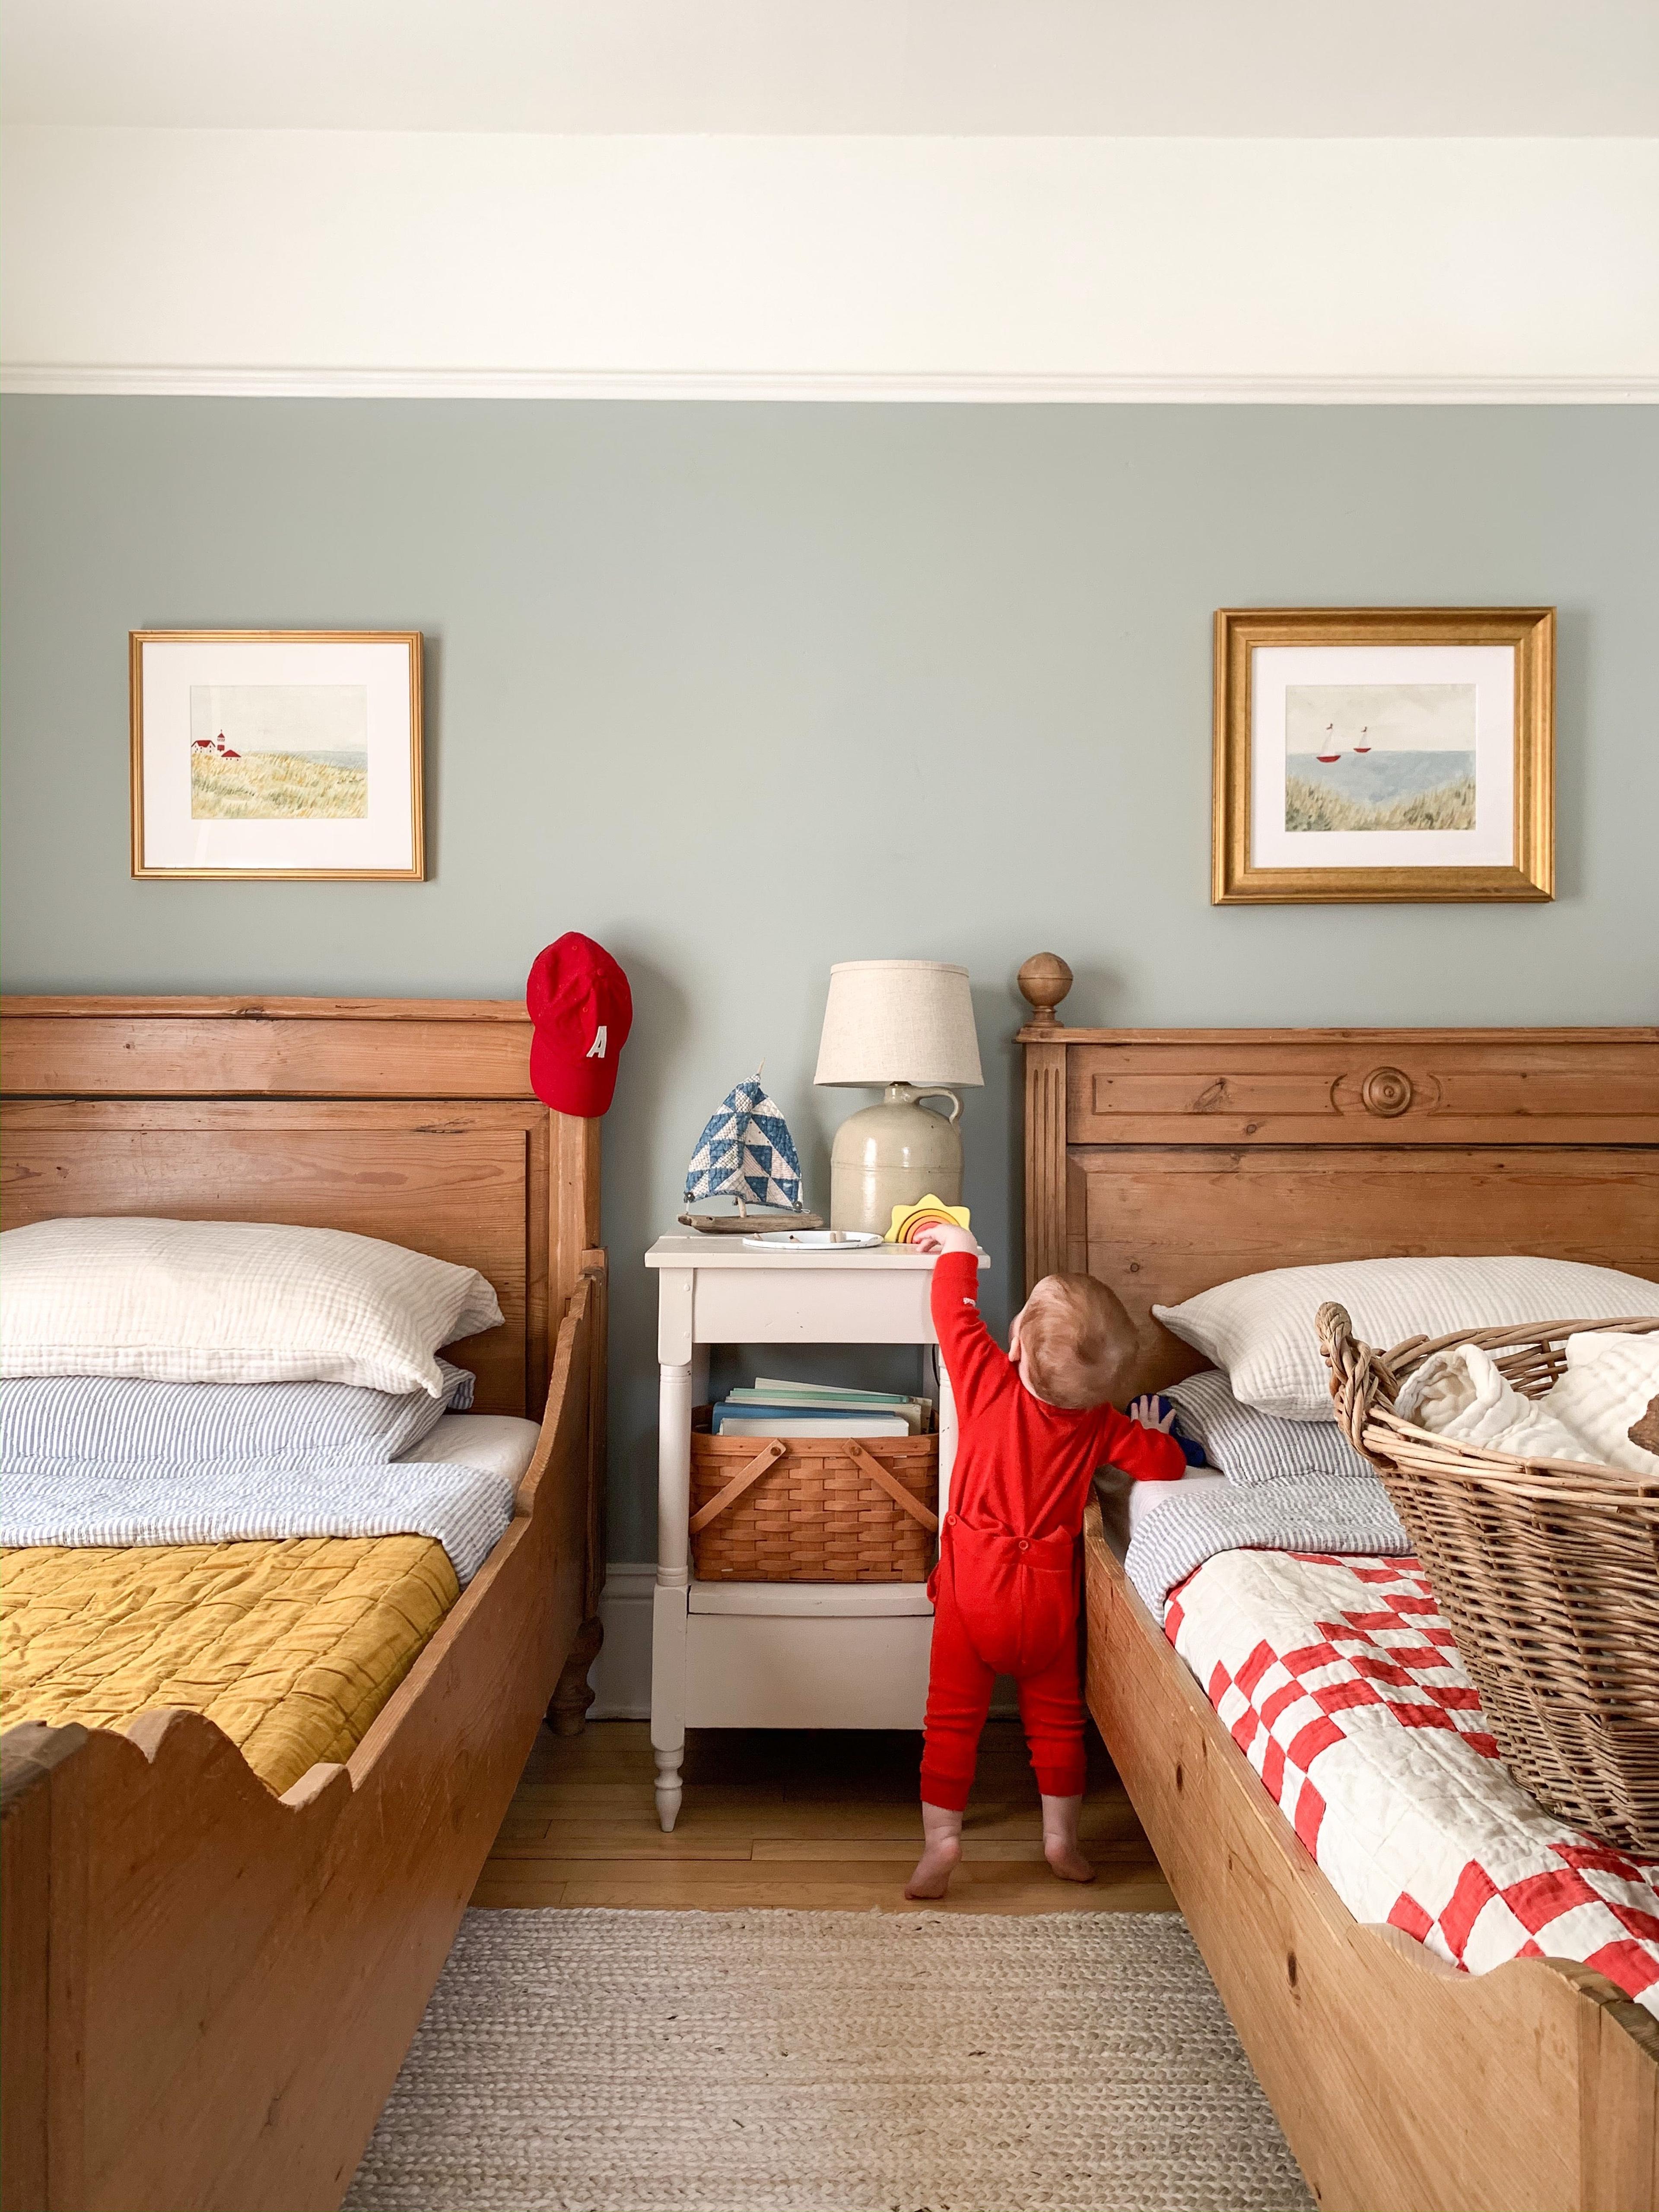
<instances>
[{"instance_id":1,"label":"thin white picture rail molding along top of blue-green wall","mask_svg":"<svg viewBox=\"0 0 1659 2212\"><path fill-rule=\"evenodd\" d=\"M931 400L1128 407L1652 407L1659 376L1188 376L0 363L0 394L314 400Z\"/></svg>"}]
</instances>

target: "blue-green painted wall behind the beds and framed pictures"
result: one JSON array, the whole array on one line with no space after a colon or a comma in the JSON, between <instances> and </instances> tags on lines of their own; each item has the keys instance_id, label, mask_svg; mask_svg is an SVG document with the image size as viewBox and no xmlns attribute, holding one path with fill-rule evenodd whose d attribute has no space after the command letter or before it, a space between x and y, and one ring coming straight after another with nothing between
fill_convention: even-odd
<instances>
[{"instance_id":1,"label":"blue-green painted wall behind the beds and framed pictures","mask_svg":"<svg viewBox=\"0 0 1659 2212\"><path fill-rule=\"evenodd\" d=\"M639 1254L765 1055L827 1194L832 960L973 971L969 1190L1015 1274L1020 960L1088 1022L1659 1011L1659 411L4 403L13 991L482 993L586 929L613 1557L653 1551ZM1210 613L1555 604L1548 907L1210 907ZM126 633L420 626L427 885L128 878Z\"/></svg>"}]
</instances>

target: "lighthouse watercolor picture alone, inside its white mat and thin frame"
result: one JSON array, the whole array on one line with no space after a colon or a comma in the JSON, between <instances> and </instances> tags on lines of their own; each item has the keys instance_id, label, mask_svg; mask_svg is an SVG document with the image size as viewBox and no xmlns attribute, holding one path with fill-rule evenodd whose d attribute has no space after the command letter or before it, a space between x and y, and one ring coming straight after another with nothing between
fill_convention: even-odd
<instances>
[{"instance_id":1,"label":"lighthouse watercolor picture alone, inside its white mat and thin frame","mask_svg":"<svg viewBox=\"0 0 1659 2212\"><path fill-rule=\"evenodd\" d=\"M192 684L192 821L361 821L369 812L363 684Z\"/></svg>"}]
</instances>

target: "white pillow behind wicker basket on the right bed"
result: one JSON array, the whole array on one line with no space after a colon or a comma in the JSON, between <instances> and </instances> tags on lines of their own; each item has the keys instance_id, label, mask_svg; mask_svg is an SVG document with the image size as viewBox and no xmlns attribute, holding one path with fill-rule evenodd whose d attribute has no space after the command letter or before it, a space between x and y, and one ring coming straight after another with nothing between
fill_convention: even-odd
<instances>
[{"instance_id":1,"label":"white pillow behind wicker basket on the right bed","mask_svg":"<svg viewBox=\"0 0 1659 2212\"><path fill-rule=\"evenodd\" d=\"M1272 1267L1152 1314L1225 1367L1234 1398L1281 1420L1332 1420L1314 1314L1334 1298L1378 1352L1405 1336L1502 1329L1526 1321L1659 1314L1659 1285L1568 1259L1352 1259Z\"/></svg>"}]
</instances>

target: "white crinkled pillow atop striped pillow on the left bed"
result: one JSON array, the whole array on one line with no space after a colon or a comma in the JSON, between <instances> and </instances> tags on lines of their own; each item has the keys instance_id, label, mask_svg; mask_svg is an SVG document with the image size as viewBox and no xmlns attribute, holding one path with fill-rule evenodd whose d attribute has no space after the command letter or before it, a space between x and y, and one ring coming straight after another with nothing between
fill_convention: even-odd
<instances>
[{"instance_id":1,"label":"white crinkled pillow atop striped pillow on the left bed","mask_svg":"<svg viewBox=\"0 0 1659 2212\"><path fill-rule=\"evenodd\" d=\"M476 1267L265 1221L35 1221L0 1237L0 1376L358 1383L442 1398L434 1354L493 1329Z\"/></svg>"}]
</instances>

